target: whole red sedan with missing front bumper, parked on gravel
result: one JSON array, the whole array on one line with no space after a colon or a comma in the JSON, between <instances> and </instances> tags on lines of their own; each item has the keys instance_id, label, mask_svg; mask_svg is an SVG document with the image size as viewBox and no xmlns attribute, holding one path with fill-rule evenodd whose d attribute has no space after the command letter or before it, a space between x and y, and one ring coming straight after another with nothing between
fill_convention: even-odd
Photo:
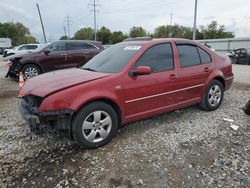
<instances>
[{"instance_id":1,"label":"whole red sedan with missing front bumper, parked on gravel","mask_svg":"<svg viewBox=\"0 0 250 188\"><path fill-rule=\"evenodd\" d=\"M28 79L19 106L31 130L69 130L79 145L106 144L121 125L199 104L217 109L233 82L232 65L185 39L148 39L112 45L82 68Z\"/></svg>"}]
</instances>

